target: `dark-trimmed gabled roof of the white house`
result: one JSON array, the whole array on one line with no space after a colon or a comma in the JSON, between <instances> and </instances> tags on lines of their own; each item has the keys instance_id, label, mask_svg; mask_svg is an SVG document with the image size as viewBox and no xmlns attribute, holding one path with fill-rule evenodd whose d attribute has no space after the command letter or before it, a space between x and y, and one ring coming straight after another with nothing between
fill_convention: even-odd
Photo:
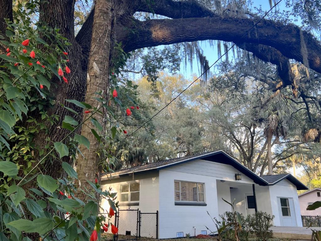
<instances>
[{"instance_id":1,"label":"dark-trimmed gabled roof of the white house","mask_svg":"<svg viewBox=\"0 0 321 241\"><path fill-rule=\"evenodd\" d=\"M207 160L207 161L213 161L217 163L223 163L223 164L228 164L237 169L239 172L242 172L244 175L248 176L251 178L256 184L267 186L267 185L274 185L277 182L274 183L269 183L269 181L265 180L263 177L260 177L256 175L254 172L252 172L250 169L246 168L243 166L241 163L239 163L236 159L232 158L229 154L226 152L219 150L219 151L211 151L211 152L205 152L202 154L195 154L191 156L185 156L185 157L179 157L179 158L174 158L174 159L169 159L169 160L164 160L164 161L159 161L159 162L154 162L150 164L145 164L137 167L132 167L132 168L126 168L126 169L121 169L116 172L110 172L106 173L105 177L102 178L102 180L107 179L107 175L111 176L112 178L117 178L117 177L123 177L123 176L129 176L132 173L135 174L142 174L146 172L151 172L151 171L158 171L161 169L169 168L172 166L180 165L183 163L187 163L190 161L194 161L197 159L202 159L202 160ZM284 177L291 175L291 174L282 174L285 175ZM278 176L278 175L272 175L272 176ZM291 175L292 176L292 175ZM283 177L283 178L284 178ZM296 179L294 176L293 178L288 178L289 181L291 181L294 185L297 186L298 190L306 190L308 189L305 185L303 185L298 179ZM293 182L295 181L295 183ZM302 188L302 189L300 189Z\"/></svg>"}]
</instances>

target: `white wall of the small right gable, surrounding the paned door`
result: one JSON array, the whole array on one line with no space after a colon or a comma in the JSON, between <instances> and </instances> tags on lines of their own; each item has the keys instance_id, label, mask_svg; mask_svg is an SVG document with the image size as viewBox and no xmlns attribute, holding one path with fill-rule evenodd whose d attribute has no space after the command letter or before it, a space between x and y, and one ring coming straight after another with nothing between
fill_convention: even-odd
<instances>
[{"instance_id":1,"label":"white wall of the small right gable, surrounding the paned door","mask_svg":"<svg viewBox=\"0 0 321 241\"><path fill-rule=\"evenodd\" d=\"M275 216L274 218L274 226L281 226L280 214L278 208L278 197L287 197L293 198L294 202L294 211L297 220L298 227L302 227L302 219L300 213L300 205L298 199L297 188L290 181L284 179L273 186L269 186L270 189L270 197L271 197L271 206L272 213Z\"/></svg>"}]
</instances>

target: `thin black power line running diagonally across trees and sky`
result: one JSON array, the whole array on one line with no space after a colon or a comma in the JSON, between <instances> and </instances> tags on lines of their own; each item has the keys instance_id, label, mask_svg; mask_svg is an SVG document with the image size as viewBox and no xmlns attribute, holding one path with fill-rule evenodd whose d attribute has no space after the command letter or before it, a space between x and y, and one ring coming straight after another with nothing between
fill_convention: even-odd
<instances>
[{"instance_id":1,"label":"thin black power line running diagonally across trees and sky","mask_svg":"<svg viewBox=\"0 0 321 241\"><path fill-rule=\"evenodd\" d=\"M280 0L280 1L278 1L276 4L274 4L273 7L272 7L269 11L267 11L267 12L264 14L264 16L263 16L259 21L257 21L249 30L247 30L246 33L243 34L240 39L242 39L245 35L247 35L247 33L248 33L249 31L251 31L257 24L259 24L259 23L266 17L266 15L272 11L273 8L275 8L275 7L276 7L279 3L281 3L281 2L282 2L282 0ZM161 108L155 115L153 115L153 116L152 116L151 118L149 118L146 122L144 122L143 125L139 126L134 132L126 135L126 137L123 138L122 140L120 140L120 142L123 141L123 140L125 140L127 137L130 137L131 135L133 135L135 132L137 132L139 129L141 129L144 125L146 125L148 122L150 122L155 116L157 116L163 109L165 109L166 107L168 107L175 99L177 99L182 93L184 93L189 87L191 87L192 84L194 84L197 80L199 80L199 79L204 75L204 73L206 73L206 72L207 72L210 68L212 68L223 56L225 56L235 45L236 45L235 43L232 44L232 46L231 46L228 50L226 50L226 52L225 52L223 55L221 55L221 57L219 57L211 66L209 66L206 70L204 70L204 72L203 72L196 80L194 80L192 83L190 83L182 92L180 92L174 99L172 99L171 101L169 101L169 103L166 104L163 108Z\"/></svg>"}]
</instances>

